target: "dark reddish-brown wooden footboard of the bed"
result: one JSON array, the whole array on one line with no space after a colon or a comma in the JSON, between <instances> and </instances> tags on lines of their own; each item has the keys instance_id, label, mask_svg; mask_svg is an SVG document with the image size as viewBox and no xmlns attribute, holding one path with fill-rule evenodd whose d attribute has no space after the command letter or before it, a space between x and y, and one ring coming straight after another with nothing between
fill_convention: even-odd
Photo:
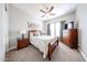
<instances>
[{"instance_id":1,"label":"dark reddish-brown wooden footboard of the bed","mask_svg":"<svg viewBox=\"0 0 87 65\"><path fill-rule=\"evenodd\" d=\"M58 45L58 39L55 41L52 45L48 43L48 52L47 52L47 57L51 61L51 55L54 52L55 47Z\"/></svg>"}]
</instances>

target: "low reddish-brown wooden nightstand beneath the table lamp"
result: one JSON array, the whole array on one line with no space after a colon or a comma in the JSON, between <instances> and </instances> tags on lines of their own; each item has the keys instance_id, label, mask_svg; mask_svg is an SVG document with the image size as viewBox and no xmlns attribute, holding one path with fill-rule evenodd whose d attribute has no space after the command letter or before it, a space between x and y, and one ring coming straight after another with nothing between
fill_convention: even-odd
<instances>
[{"instance_id":1,"label":"low reddish-brown wooden nightstand beneath the table lamp","mask_svg":"<svg viewBox=\"0 0 87 65\"><path fill-rule=\"evenodd\" d=\"M18 50L24 48L30 45L29 39L18 39Z\"/></svg>"}]
</instances>

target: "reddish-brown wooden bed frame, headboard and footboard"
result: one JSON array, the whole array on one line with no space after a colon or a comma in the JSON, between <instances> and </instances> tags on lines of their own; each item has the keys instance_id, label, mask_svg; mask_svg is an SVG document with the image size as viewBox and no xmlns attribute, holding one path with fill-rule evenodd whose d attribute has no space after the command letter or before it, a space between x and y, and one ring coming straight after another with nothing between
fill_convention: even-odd
<instances>
[{"instance_id":1,"label":"reddish-brown wooden bed frame, headboard and footboard","mask_svg":"<svg viewBox=\"0 0 87 65\"><path fill-rule=\"evenodd\" d=\"M35 32L36 32L36 30L31 30L31 31L29 31L29 34L30 33L34 34ZM40 33L41 33L41 31L40 31ZM48 43L47 57L48 57L50 61L51 61L51 55L52 55L52 53L54 52L54 50L56 48L57 45L58 45L58 37L53 44Z\"/></svg>"}]
</instances>

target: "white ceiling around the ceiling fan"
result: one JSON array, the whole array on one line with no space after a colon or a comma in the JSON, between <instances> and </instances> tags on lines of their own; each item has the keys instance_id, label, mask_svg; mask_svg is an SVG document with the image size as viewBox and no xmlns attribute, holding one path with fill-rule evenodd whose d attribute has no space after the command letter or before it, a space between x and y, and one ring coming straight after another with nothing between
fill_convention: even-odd
<instances>
[{"instance_id":1,"label":"white ceiling around the ceiling fan","mask_svg":"<svg viewBox=\"0 0 87 65\"><path fill-rule=\"evenodd\" d=\"M40 9L45 10L46 7L54 6L52 12L56 13L56 15L52 15L48 18L48 19L54 19L56 17L75 11L77 7L76 3L12 3L12 6L32 15L33 18L37 18L42 20L47 20L47 18L46 17L41 18L43 13L40 11Z\"/></svg>"}]
</instances>

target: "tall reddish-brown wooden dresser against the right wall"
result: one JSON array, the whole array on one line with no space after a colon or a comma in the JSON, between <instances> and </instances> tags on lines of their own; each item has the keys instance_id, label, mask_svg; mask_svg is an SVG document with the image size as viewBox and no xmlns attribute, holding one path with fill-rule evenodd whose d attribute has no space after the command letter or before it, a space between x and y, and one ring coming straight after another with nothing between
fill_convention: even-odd
<instances>
[{"instance_id":1,"label":"tall reddish-brown wooden dresser against the right wall","mask_svg":"<svg viewBox=\"0 0 87 65\"><path fill-rule=\"evenodd\" d=\"M78 30L69 29L63 31L63 42L72 48L78 47Z\"/></svg>"}]
</instances>

